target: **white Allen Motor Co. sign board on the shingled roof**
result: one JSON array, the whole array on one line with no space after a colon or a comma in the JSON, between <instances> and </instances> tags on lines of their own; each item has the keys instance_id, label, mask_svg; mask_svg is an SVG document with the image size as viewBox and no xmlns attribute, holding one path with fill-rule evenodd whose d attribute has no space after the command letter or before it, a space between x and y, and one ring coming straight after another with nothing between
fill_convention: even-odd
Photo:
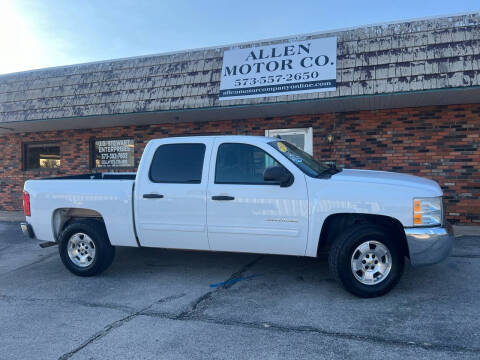
<instances>
[{"instance_id":1,"label":"white Allen Motor Co. sign board on the shingled roof","mask_svg":"<svg viewBox=\"0 0 480 360\"><path fill-rule=\"evenodd\" d=\"M335 91L337 38L235 48L223 54L220 100Z\"/></svg>"}]
</instances>

